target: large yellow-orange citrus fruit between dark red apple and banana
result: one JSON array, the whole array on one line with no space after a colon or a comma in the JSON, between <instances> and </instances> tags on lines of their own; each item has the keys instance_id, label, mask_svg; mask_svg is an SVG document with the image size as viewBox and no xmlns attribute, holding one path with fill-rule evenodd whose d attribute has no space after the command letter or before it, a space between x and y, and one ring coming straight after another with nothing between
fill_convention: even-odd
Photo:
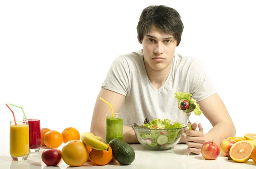
<instances>
[{"instance_id":1,"label":"large yellow-orange citrus fruit between dark red apple and banana","mask_svg":"<svg viewBox=\"0 0 256 169\"><path fill-rule=\"evenodd\" d=\"M81 166L87 161L89 152L83 142L70 140L62 147L61 156L67 165Z\"/></svg>"}]
</instances>

